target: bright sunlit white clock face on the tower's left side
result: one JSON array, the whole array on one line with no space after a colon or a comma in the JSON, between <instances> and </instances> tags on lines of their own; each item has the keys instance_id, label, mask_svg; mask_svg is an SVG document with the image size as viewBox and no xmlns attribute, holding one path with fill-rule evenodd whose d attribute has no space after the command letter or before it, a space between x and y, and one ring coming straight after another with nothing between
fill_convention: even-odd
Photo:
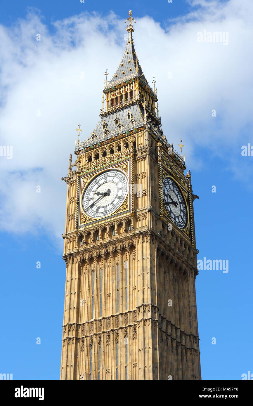
<instances>
[{"instance_id":1,"label":"bright sunlit white clock face on the tower's left side","mask_svg":"<svg viewBox=\"0 0 253 406\"><path fill-rule=\"evenodd\" d=\"M128 178L118 170L95 176L84 190L82 207L87 216L103 218L114 213L128 194Z\"/></svg>"}]
</instances>

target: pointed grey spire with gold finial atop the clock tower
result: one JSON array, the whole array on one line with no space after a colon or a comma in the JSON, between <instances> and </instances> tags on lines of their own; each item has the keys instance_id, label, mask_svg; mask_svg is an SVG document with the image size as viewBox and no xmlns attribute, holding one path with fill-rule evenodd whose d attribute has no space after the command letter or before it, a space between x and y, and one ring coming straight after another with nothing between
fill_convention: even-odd
<instances>
[{"instance_id":1,"label":"pointed grey spire with gold finial atop the clock tower","mask_svg":"<svg viewBox=\"0 0 253 406\"><path fill-rule=\"evenodd\" d=\"M132 37L132 32L134 31L132 22L134 21L134 19L132 17L132 10L129 11L129 17L127 21L128 25L126 27L126 30L128 31L128 41L126 43L125 52L115 75L113 76L112 80L107 83L107 87L113 86L115 82L121 83L136 76L139 76L143 79L143 82L147 83L134 49L134 41Z\"/></svg>"}]
</instances>

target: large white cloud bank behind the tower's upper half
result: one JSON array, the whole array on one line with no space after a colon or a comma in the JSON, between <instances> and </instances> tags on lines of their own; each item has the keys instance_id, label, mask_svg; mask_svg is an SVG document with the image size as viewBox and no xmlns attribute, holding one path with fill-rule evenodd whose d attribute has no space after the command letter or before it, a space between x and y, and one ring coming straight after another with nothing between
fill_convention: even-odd
<instances>
[{"instance_id":1,"label":"large white cloud bank behind the tower's upper half","mask_svg":"<svg viewBox=\"0 0 253 406\"><path fill-rule=\"evenodd\" d=\"M171 21L167 30L151 17L137 19L136 53L150 84L156 76L164 134L176 146L182 137L188 166L201 166L194 148L202 145L222 157L226 151L230 168L240 159L235 145L251 140L253 4L194 4L197 11ZM229 44L197 42L203 30L229 32ZM124 34L123 20L113 13L55 22L54 34L37 11L0 27L0 144L13 145L12 160L0 157L3 229L64 232L66 185L60 179L69 153L75 157L75 129L80 122L86 138L97 124L105 68L112 77Z\"/></svg>"}]
</instances>

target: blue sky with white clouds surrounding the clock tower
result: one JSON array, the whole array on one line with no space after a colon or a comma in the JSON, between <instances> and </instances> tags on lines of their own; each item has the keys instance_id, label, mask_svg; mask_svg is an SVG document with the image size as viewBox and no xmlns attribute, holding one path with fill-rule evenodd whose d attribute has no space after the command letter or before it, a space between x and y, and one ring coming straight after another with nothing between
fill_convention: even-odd
<instances>
[{"instance_id":1,"label":"blue sky with white clouds surrounding the clock tower","mask_svg":"<svg viewBox=\"0 0 253 406\"><path fill-rule=\"evenodd\" d=\"M253 373L253 156L241 154L253 145L253 5L14 1L0 5L0 144L13 145L13 159L0 156L0 372L13 379L59 379L66 202L60 179L77 124L84 138L97 124L104 71L110 77L119 65L129 9L145 76L149 83L156 76L164 134L174 146L182 137L200 197L198 259L229 260L229 272L199 270L196 278L202 379ZM203 30L229 32L229 44L198 44Z\"/></svg>"}]
</instances>

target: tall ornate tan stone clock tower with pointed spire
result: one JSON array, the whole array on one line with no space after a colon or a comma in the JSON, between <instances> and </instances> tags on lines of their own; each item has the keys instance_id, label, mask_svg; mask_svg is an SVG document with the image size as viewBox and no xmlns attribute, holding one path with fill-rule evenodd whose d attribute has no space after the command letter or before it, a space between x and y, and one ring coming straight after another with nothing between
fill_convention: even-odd
<instances>
[{"instance_id":1,"label":"tall ornate tan stone clock tower with pointed spire","mask_svg":"<svg viewBox=\"0 0 253 406\"><path fill-rule=\"evenodd\" d=\"M182 153L160 128L131 11L127 31L101 120L76 144L64 178L61 379L201 379L196 196Z\"/></svg>"}]
</instances>

